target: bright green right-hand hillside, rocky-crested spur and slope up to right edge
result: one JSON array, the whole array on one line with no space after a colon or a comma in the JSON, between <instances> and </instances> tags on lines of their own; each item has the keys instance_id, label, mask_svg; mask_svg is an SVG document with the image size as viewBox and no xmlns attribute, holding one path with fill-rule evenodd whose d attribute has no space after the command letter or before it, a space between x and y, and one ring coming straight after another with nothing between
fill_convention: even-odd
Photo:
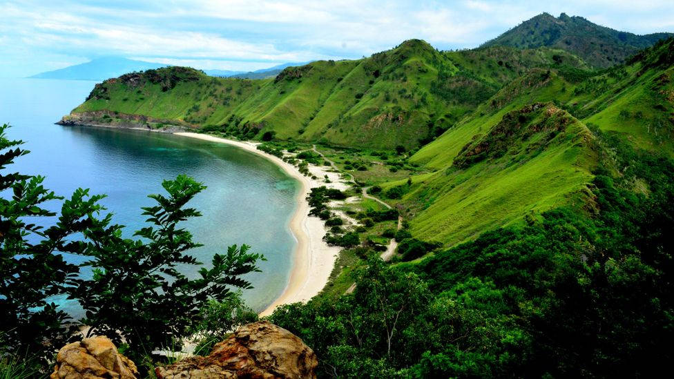
<instances>
[{"instance_id":1,"label":"bright green right-hand hillside, rocky-crested spur and slope up to right edge","mask_svg":"<svg viewBox=\"0 0 674 379\"><path fill-rule=\"evenodd\" d=\"M511 81L410 158L429 171L398 201L412 234L451 245L558 206L593 208L593 169L611 154L597 135L673 157L673 51L668 39L585 79L534 69ZM404 182L383 184L394 186ZM648 192L637 179L633 190Z\"/></svg>"}]
</instances>

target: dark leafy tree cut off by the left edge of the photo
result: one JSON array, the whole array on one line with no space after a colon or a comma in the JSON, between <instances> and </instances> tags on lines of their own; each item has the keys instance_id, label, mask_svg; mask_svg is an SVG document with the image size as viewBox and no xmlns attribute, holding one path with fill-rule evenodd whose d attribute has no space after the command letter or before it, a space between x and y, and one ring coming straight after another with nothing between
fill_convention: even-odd
<instances>
[{"instance_id":1,"label":"dark leafy tree cut off by the left edge of the photo","mask_svg":"<svg viewBox=\"0 0 674 379\"><path fill-rule=\"evenodd\" d=\"M79 270L60 253L82 252L73 238L93 226L103 196L80 188L63 203L55 224L41 226L56 216L44 204L63 197L44 188L44 177L6 173L14 159L29 153L19 148L22 141L6 137L7 128L0 127L0 192L10 195L0 197L0 350L46 358L72 330L53 297L64 294L66 280Z\"/></svg>"}]
</instances>

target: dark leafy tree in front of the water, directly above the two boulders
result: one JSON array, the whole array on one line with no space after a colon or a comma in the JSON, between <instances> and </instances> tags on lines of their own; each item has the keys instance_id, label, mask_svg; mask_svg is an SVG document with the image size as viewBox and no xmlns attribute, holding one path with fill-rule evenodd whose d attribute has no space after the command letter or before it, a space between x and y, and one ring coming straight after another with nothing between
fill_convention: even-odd
<instances>
[{"instance_id":1,"label":"dark leafy tree in front of the water, directly above the two boulders","mask_svg":"<svg viewBox=\"0 0 674 379\"><path fill-rule=\"evenodd\" d=\"M162 186L168 197L150 195L157 205L143 208L151 226L135 235L144 240L122 238L118 225L91 235L85 255L93 259L84 265L91 267L93 277L72 280L70 287L70 298L78 299L86 311L82 322L91 327L88 334L146 351L189 336L200 308L209 300L228 300L230 286L252 288L240 275L259 271L256 261L264 259L249 253L247 245L229 246L224 255L213 255L211 269L200 269L200 278L187 278L178 266L200 265L186 252L202 245L193 242L180 222L201 215L184 205L205 186L186 175L165 180Z\"/></svg>"}]
</instances>

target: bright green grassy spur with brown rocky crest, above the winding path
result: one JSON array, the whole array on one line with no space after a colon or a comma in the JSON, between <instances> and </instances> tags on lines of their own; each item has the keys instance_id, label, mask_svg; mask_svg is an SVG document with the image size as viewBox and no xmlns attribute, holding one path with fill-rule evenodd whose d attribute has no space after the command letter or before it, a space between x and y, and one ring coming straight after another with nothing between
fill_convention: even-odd
<instances>
[{"instance_id":1,"label":"bright green grassy spur with brown rocky crest, above the winding path","mask_svg":"<svg viewBox=\"0 0 674 379\"><path fill-rule=\"evenodd\" d=\"M485 120L484 133L453 144L447 168L412 177L401 203L413 235L452 245L524 215L586 204L597 161L588 128L552 103L501 114Z\"/></svg>"}]
</instances>

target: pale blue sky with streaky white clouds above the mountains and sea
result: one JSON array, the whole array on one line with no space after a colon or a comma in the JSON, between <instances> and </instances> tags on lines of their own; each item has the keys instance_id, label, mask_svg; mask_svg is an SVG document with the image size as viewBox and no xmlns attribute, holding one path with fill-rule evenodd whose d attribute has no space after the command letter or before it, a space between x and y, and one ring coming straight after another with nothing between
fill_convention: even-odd
<instances>
[{"instance_id":1,"label":"pale blue sky with streaky white clouds above the mountains and sea","mask_svg":"<svg viewBox=\"0 0 674 379\"><path fill-rule=\"evenodd\" d=\"M0 0L0 77L108 56L248 71L357 59L412 38L473 48L541 12L636 34L674 32L674 0Z\"/></svg>"}]
</instances>

